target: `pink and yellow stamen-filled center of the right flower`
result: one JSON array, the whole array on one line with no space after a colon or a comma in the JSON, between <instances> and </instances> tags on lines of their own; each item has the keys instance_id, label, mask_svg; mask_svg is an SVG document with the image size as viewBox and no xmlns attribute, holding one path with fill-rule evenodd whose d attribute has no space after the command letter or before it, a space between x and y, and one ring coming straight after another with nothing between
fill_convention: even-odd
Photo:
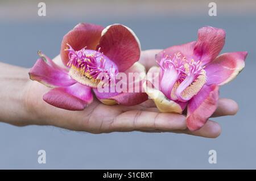
<instances>
[{"instance_id":1,"label":"pink and yellow stamen-filled center of the right flower","mask_svg":"<svg viewBox=\"0 0 256 181\"><path fill-rule=\"evenodd\" d=\"M187 102L197 94L207 82L207 75L201 62L188 62L181 53L164 56L159 63L161 91L172 100Z\"/></svg>"}]
</instances>

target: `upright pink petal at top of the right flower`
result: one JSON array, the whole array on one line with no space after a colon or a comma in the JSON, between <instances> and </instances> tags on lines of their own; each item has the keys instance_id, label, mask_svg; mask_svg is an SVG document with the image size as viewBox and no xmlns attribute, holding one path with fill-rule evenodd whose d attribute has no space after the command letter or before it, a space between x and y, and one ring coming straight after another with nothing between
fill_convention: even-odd
<instances>
[{"instance_id":1,"label":"upright pink petal at top of the right flower","mask_svg":"<svg viewBox=\"0 0 256 181\"><path fill-rule=\"evenodd\" d=\"M220 28L203 27L198 30L194 54L203 65L213 61L225 44L226 32Z\"/></svg>"}]
</instances>

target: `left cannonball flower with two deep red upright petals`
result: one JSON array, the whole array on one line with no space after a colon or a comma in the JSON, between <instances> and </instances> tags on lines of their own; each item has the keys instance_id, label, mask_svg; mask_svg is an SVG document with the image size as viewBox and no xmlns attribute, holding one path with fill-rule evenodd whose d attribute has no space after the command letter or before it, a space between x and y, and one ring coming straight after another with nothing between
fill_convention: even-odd
<instances>
[{"instance_id":1,"label":"left cannonball flower with two deep red upright petals","mask_svg":"<svg viewBox=\"0 0 256 181\"><path fill-rule=\"evenodd\" d=\"M93 101L92 90L104 104L133 106L147 100L147 94L100 92L97 86L103 80L98 75L104 73L105 82L106 79L116 81L115 76L119 73L137 72L146 77L144 66L137 62L140 53L141 45L130 28L121 24L103 28L80 23L63 37L61 43L60 56L67 68L61 68L39 52L40 58L29 74L32 80L53 88L43 96L43 100L55 107L84 110Z\"/></svg>"}]
</instances>

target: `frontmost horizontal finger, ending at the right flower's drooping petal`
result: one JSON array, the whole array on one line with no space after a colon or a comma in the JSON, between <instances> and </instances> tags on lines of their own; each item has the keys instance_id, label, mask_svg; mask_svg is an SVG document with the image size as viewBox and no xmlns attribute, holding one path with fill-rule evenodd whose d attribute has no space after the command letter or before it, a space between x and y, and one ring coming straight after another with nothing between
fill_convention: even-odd
<instances>
[{"instance_id":1,"label":"frontmost horizontal finger, ending at the right flower's drooping petal","mask_svg":"<svg viewBox=\"0 0 256 181\"><path fill-rule=\"evenodd\" d=\"M115 118L110 129L113 131L161 130L167 132L186 128L183 115L139 110L121 113Z\"/></svg>"}]
</instances>

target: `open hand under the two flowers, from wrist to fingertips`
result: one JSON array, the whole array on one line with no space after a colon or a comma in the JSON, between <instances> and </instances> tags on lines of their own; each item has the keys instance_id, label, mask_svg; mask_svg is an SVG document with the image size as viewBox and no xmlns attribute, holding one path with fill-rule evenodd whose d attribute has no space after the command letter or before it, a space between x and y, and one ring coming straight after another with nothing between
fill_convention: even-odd
<instances>
[{"instance_id":1,"label":"open hand under the two flowers, from wrist to fingertips","mask_svg":"<svg viewBox=\"0 0 256 181\"><path fill-rule=\"evenodd\" d=\"M142 52L140 62L150 68L155 65L155 54L159 50ZM63 66L60 56L53 61ZM36 81L27 84L27 104L35 124L53 125L56 127L85 131L90 133L109 132L175 132L193 134L203 137L217 137L221 128L214 121L207 123L198 131L188 131L185 116L176 113L160 113L151 99L137 106L126 107L121 105L107 106L94 98L84 111L67 111L53 107L43 101L42 97L49 90L48 87ZM234 115L238 110L236 102L230 99L220 99L218 108L212 117Z\"/></svg>"}]
</instances>

